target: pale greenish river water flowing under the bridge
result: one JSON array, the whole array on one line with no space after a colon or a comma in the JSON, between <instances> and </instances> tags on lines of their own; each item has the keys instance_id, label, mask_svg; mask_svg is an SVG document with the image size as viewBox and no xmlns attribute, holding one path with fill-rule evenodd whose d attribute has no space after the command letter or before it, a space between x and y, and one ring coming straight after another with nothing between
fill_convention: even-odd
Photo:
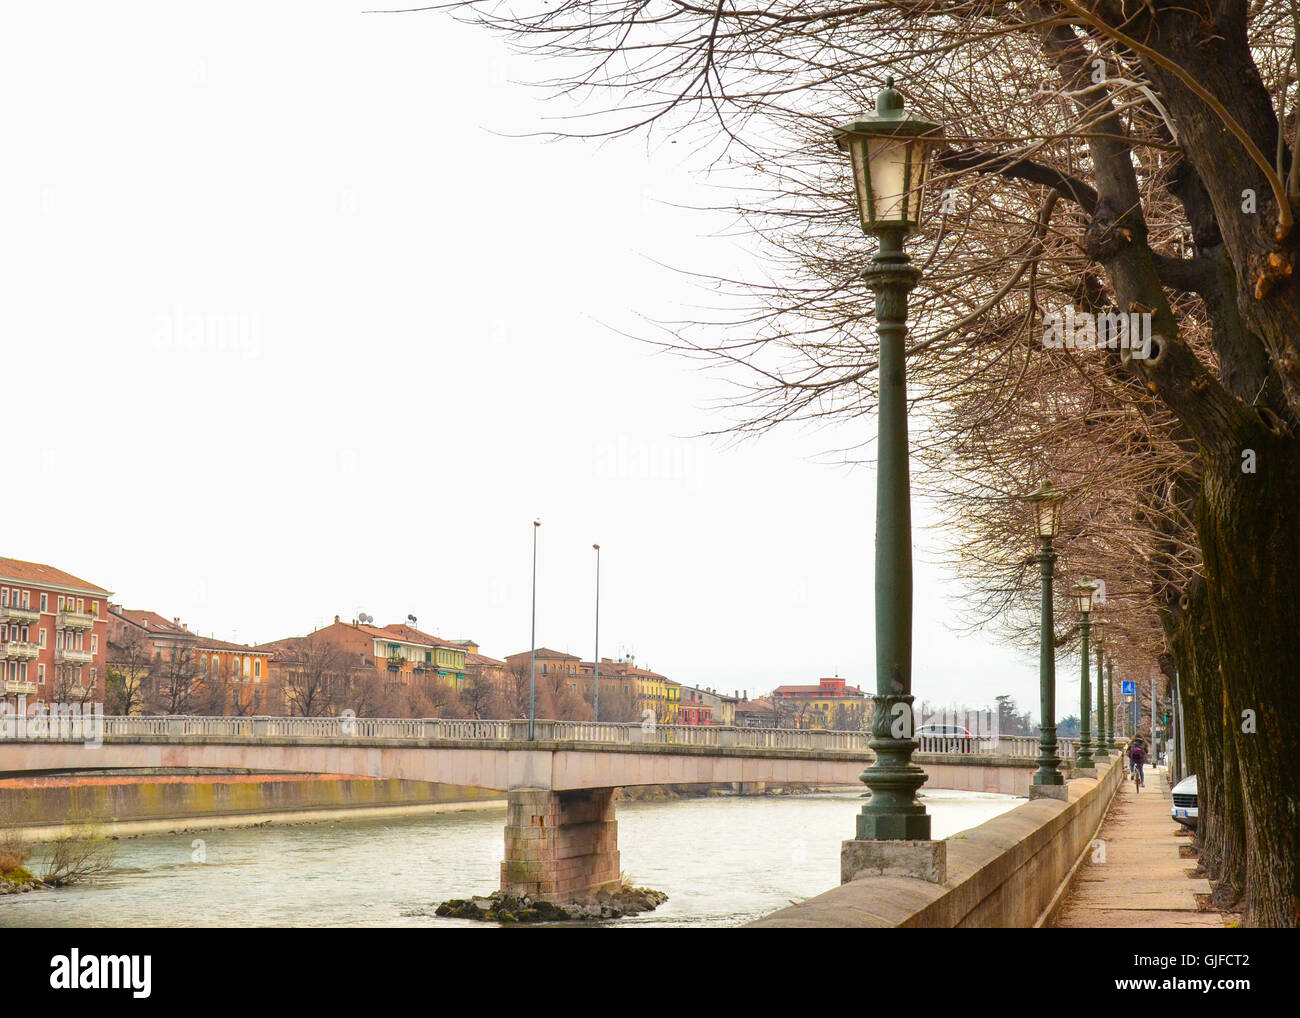
<instances>
[{"instance_id":1,"label":"pale greenish river water flowing under the bridge","mask_svg":"<svg viewBox=\"0 0 1300 1018\"><path fill-rule=\"evenodd\" d=\"M933 836L1020 805L926 792ZM840 881L858 789L618 806L623 871L668 893L608 926L738 926ZM0 926L482 926L433 914L498 885L504 807L122 839L94 884L0 897ZM39 863L39 858L36 859Z\"/></svg>"}]
</instances>

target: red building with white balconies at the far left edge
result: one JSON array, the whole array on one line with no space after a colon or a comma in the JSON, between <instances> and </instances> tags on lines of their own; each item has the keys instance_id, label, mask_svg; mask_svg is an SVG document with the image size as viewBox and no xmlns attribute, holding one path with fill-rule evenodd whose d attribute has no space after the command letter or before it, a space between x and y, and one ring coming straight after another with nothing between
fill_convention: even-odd
<instances>
[{"instance_id":1,"label":"red building with white balconies at the far left edge","mask_svg":"<svg viewBox=\"0 0 1300 1018\"><path fill-rule=\"evenodd\" d=\"M101 703L110 595L53 566L0 558L4 696Z\"/></svg>"}]
</instances>

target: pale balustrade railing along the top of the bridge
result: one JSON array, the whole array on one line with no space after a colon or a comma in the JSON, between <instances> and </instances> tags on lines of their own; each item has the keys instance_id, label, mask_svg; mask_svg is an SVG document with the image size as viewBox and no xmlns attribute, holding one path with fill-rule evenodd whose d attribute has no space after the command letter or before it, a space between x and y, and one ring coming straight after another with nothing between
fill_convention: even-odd
<instances>
[{"instance_id":1,"label":"pale balustrade railing along the top of the bridge","mask_svg":"<svg viewBox=\"0 0 1300 1018\"><path fill-rule=\"evenodd\" d=\"M40 737L42 729L29 729ZM526 720L469 720L443 718L207 718L194 715L104 716L104 738L347 738L393 741L526 741ZM0 737L14 738L13 725ZM22 736L17 736L22 737ZM48 737L48 736L46 736ZM718 746L774 750L827 750L867 755L870 732L809 728L728 728L679 724L618 724L612 722L536 720L534 737L547 742L618 746ZM972 753L1031 761L1039 754L1036 736L953 737L920 736L919 753ZM1058 740L1058 754L1072 761L1075 740Z\"/></svg>"}]
</instances>

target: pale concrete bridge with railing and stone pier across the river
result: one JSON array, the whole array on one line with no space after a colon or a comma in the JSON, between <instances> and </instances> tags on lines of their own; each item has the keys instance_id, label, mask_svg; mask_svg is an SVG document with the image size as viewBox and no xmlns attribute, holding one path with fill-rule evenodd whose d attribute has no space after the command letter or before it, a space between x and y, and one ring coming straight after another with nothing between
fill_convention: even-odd
<instances>
[{"instance_id":1,"label":"pale concrete bridge with railing and stone pier across the river","mask_svg":"<svg viewBox=\"0 0 1300 1018\"><path fill-rule=\"evenodd\" d=\"M848 785L874 759L866 732L536 722L526 736L528 722L8 715L0 772L252 768L500 789L502 889L571 897L619 881L615 788ZM922 738L914 762L931 788L1027 794L1036 754L1034 738Z\"/></svg>"}]
</instances>

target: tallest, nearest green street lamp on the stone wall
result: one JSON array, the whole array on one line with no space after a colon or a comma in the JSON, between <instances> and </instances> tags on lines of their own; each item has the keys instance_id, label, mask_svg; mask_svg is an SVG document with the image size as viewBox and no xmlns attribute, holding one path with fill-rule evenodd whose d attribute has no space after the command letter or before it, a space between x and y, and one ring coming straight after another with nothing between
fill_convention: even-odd
<instances>
[{"instance_id":1,"label":"tallest, nearest green street lamp on the stone wall","mask_svg":"<svg viewBox=\"0 0 1300 1018\"><path fill-rule=\"evenodd\" d=\"M871 798L858 816L858 840L928 841L930 815L916 800L926 772L911 762L911 493L907 467L907 382L904 339L907 294L920 273L904 252L920 226L930 153L939 124L904 109L893 78L875 113L835 130L848 151L862 229L880 242L862 278L876 298L880 335L879 460L876 467L876 692L871 740L875 763L862 774Z\"/></svg>"}]
</instances>

